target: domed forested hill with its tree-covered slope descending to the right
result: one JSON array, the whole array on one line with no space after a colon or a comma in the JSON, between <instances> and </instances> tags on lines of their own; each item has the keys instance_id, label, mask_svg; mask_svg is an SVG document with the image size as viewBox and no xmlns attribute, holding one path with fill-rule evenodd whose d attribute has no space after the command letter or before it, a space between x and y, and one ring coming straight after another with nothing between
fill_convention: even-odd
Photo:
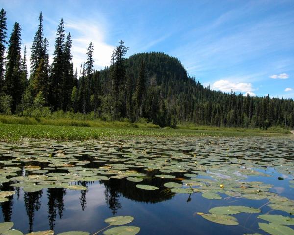
<instances>
[{"instance_id":1,"label":"domed forested hill with its tree-covered slope descending to the right","mask_svg":"<svg viewBox=\"0 0 294 235\"><path fill-rule=\"evenodd\" d=\"M132 98L125 98L126 102L122 101L121 113L126 110L127 118L135 119L132 109L142 61L146 84L142 117L153 123L162 126L179 122L260 128L294 126L292 99L245 97L210 90L189 77L178 59L160 52L135 54L126 60L126 93L133 94ZM100 74L103 94L110 94L109 69Z\"/></svg>"}]
</instances>

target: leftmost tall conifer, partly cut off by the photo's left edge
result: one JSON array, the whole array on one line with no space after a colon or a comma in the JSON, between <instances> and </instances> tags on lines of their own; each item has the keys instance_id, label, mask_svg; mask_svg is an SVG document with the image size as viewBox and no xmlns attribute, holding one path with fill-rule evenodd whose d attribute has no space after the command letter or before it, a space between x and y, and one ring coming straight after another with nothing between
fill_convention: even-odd
<instances>
[{"instance_id":1,"label":"leftmost tall conifer, partly cut off by the photo's left edge","mask_svg":"<svg viewBox=\"0 0 294 235\"><path fill-rule=\"evenodd\" d=\"M4 87L4 72L5 72L5 44L7 37L6 12L2 8L0 11L0 95Z\"/></svg>"}]
</instances>

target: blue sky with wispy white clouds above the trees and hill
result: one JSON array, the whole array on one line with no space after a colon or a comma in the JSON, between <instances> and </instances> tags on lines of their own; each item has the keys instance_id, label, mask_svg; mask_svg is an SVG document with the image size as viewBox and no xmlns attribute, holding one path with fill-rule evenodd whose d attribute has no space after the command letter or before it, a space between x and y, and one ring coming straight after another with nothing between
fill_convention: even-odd
<instances>
[{"instance_id":1,"label":"blue sky with wispy white clouds above the trees and hill","mask_svg":"<svg viewBox=\"0 0 294 235\"><path fill-rule=\"evenodd\" d=\"M1 7L8 34L19 22L28 48L43 12L50 59L63 17L75 67L91 41L95 66L109 65L122 39L128 55L175 56L215 90L294 98L294 0L1 0Z\"/></svg>"}]
</instances>

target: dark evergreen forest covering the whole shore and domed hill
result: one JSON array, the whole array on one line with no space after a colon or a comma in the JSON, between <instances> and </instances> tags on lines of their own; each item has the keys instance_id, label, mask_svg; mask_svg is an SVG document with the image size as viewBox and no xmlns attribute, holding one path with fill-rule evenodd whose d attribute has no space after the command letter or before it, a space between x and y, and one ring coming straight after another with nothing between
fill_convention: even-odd
<instances>
[{"instance_id":1,"label":"dark evergreen forest covering the whole shore and domed hill","mask_svg":"<svg viewBox=\"0 0 294 235\"><path fill-rule=\"evenodd\" d=\"M57 28L53 62L43 34L43 16L33 38L30 71L27 48L21 52L21 26L15 23L8 39L6 12L0 11L0 113L24 116L64 111L92 113L103 120L140 121L160 126L178 123L250 127L294 127L292 99L251 97L203 87L176 58L160 52L125 58L120 41L110 66L94 69L91 42L87 60L73 68L71 34L64 21ZM8 41L7 41L8 40ZM99 48L97 48L99 49ZM85 48L86 51L86 48Z\"/></svg>"}]
</instances>

